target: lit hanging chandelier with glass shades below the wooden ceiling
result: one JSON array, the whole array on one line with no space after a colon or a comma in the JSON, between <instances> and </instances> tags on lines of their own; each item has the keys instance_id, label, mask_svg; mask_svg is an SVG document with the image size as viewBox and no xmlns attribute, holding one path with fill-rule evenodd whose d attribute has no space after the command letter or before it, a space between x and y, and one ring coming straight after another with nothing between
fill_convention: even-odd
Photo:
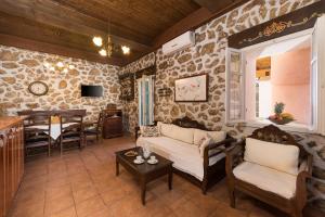
<instances>
[{"instance_id":1,"label":"lit hanging chandelier with glass shades below the wooden ceiling","mask_svg":"<svg viewBox=\"0 0 325 217\"><path fill-rule=\"evenodd\" d=\"M108 30L107 30L106 41L104 41L101 36L94 36L92 38L92 42L96 47L101 48L101 50L99 51L100 55L110 58L113 52L118 52L118 51L121 51L125 55L130 54L130 48L129 47L127 47L127 46L120 46L120 47L114 46L114 43L112 42L112 38L110 38L110 25L109 24L110 24L110 22L108 21Z\"/></svg>"}]
</instances>

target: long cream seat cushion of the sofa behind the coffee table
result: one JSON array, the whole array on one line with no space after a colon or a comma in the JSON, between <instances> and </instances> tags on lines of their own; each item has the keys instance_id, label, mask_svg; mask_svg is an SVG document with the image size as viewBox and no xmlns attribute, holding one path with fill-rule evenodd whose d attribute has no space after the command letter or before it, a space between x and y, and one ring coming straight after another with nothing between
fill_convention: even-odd
<instances>
[{"instance_id":1,"label":"long cream seat cushion of the sofa behind the coffee table","mask_svg":"<svg viewBox=\"0 0 325 217\"><path fill-rule=\"evenodd\" d=\"M196 145L188 145L186 142L169 137L140 137L136 140L136 146L145 145L150 146L152 152L172 161L174 168L203 181L204 162ZM210 157L209 165L216 164L224 157L224 153Z\"/></svg>"}]
</instances>

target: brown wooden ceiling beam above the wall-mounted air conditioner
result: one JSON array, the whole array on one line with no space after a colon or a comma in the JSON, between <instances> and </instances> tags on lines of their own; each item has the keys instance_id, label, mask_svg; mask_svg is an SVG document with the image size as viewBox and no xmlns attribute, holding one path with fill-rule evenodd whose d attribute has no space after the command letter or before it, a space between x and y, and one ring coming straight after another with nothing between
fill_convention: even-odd
<instances>
[{"instance_id":1,"label":"brown wooden ceiling beam above the wall-mounted air conditioner","mask_svg":"<svg viewBox=\"0 0 325 217\"><path fill-rule=\"evenodd\" d=\"M213 13L206 8L200 8L156 37L154 39L153 47L158 49L167 41L182 35L183 33L195 29L248 1L249 0L234 0L229 5Z\"/></svg>"}]
</instances>

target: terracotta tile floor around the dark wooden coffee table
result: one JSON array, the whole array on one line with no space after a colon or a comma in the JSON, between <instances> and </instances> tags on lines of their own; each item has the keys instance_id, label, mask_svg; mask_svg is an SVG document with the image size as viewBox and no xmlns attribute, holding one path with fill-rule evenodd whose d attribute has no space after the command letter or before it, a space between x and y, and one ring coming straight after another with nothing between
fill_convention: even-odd
<instances>
[{"instance_id":1,"label":"terracotta tile floor around the dark wooden coffee table","mask_svg":"<svg viewBox=\"0 0 325 217\"><path fill-rule=\"evenodd\" d=\"M115 151L134 146L132 138L104 140L61 157L42 156L26 163L12 217L102 216L285 216L264 204L239 195L237 208L229 206L225 180L207 195L174 175L173 190L161 178L148 186L146 206L140 201L136 181L121 167L115 176Z\"/></svg>"}]
</instances>

